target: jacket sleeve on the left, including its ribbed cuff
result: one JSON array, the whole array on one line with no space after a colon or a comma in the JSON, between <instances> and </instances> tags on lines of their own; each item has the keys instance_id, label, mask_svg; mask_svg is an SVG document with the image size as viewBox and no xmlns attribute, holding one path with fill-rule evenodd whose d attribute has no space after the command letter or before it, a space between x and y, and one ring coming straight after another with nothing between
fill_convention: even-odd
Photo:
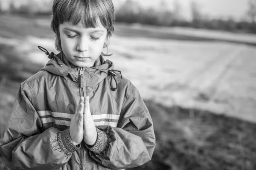
<instances>
[{"instance_id":1,"label":"jacket sleeve on the left, including its ribbed cuff","mask_svg":"<svg viewBox=\"0 0 256 170\"><path fill-rule=\"evenodd\" d=\"M78 149L70 139L69 129L51 127L41 132L42 127L28 84L23 82L0 139L0 150L9 169L58 169Z\"/></svg>"}]
</instances>

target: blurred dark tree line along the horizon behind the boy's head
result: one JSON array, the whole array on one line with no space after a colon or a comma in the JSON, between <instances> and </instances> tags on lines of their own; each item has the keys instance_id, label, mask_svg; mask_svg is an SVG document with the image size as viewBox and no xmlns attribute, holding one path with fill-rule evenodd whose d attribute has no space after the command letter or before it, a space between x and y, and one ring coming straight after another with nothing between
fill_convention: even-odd
<instances>
[{"instance_id":1,"label":"blurred dark tree line along the horizon behind the boy's head","mask_svg":"<svg viewBox=\"0 0 256 170\"><path fill-rule=\"evenodd\" d=\"M2 2L0 0L0 11ZM204 28L214 30L226 30L233 32L248 32L256 34L256 0L249 0L248 10L241 20L233 18L210 18L201 12L200 5L196 1L191 1L191 20L182 16L181 4L175 0L172 9L167 7L166 0L159 0L158 8L143 8L138 1L126 0L116 10L116 22L142 23L156 26L180 26L192 28ZM42 14L51 15L51 0L41 0L24 3L15 6L15 1L9 3L7 11L19 14Z\"/></svg>"}]
</instances>

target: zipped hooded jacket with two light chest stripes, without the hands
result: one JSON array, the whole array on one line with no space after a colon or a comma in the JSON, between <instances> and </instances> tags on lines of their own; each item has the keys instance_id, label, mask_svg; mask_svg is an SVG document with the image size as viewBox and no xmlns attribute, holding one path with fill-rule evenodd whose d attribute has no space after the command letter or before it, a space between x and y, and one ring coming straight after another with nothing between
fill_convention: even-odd
<instances>
[{"instance_id":1,"label":"zipped hooded jacket with two light chest stripes, without the hands","mask_svg":"<svg viewBox=\"0 0 256 170\"><path fill-rule=\"evenodd\" d=\"M101 56L94 67L71 68L59 53L22 82L0 139L7 166L11 170L106 170L149 161L155 147L151 116L134 85L120 74L113 77L112 70L113 63ZM80 96L90 96L97 129L93 147L84 141L75 146L70 139L70 120Z\"/></svg>"}]
</instances>

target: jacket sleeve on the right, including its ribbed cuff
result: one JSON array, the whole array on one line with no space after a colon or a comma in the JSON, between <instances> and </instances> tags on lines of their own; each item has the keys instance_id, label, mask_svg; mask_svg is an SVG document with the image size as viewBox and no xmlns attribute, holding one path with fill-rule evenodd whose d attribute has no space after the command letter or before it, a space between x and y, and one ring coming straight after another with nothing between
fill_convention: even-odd
<instances>
[{"instance_id":1,"label":"jacket sleeve on the right, including its ribbed cuff","mask_svg":"<svg viewBox=\"0 0 256 170\"><path fill-rule=\"evenodd\" d=\"M99 126L98 139L88 147L90 156L105 167L122 169L151 160L155 135L148 109L137 89L127 90L117 127Z\"/></svg>"}]
</instances>

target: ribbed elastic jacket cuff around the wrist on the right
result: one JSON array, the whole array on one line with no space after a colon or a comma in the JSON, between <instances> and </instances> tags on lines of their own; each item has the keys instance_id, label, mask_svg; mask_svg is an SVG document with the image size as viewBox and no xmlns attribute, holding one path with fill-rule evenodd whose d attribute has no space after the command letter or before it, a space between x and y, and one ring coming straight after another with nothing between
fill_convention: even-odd
<instances>
[{"instance_id":1,"label":"ribbed elastic jacket cuff around the wrist on the right","mask_svg":"<svg viewBox=\"0 0 256 170\"><path fill-rule=\"evenodd\" d=\"M96 128L97 130L97 140L96 143L93 145L93 147L89 147L87 144L87 148L92 151L95 155L99 155L101 154L104 150L106 150L107 146L108 146L108 135L106 132L99 130L98 128Z\"/></svg>"}]
</instances>

